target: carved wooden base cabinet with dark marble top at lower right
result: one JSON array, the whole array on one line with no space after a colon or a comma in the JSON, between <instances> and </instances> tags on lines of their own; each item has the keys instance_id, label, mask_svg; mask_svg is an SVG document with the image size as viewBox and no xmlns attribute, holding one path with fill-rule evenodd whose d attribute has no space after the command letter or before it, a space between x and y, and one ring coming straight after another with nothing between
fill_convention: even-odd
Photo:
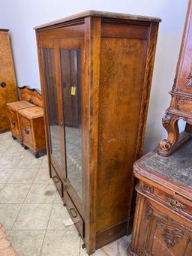
<instances>
[{"instance_id":1,"label":"carved wooden base cabinet with dark marble top at lower right","mask_svg":"<svg viewBox=\"0 0 192 256\"><path fill-rule=\"evenodd\" d=\"M136 161L136 212L128 255L191 256L192 140L164 158L157 149Z\"/></svg>"}]
</instances>

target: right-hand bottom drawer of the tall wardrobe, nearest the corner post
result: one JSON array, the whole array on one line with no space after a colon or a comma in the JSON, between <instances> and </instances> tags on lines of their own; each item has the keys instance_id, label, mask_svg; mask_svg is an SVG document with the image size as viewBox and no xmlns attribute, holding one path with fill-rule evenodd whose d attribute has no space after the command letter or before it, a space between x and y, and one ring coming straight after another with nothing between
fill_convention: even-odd
<instances>
[{"instance_id":1,"label":"right-hand bottom drawer of the tall wardrobe, nearest the corner post","mask_svg":"<svg viewBox=\"0 0 192 256\"><path fill-rule=\"evenodd\" d=\"M68 209L68 212L74 221L74 224L77 227L77 230L79 231L80 235L84 237L84 221L83 218L81 218L80 213L77 211L76 206L74 206L74 203L71 200L71 197L69 196L68 192L65 192L65 204Z\"/></svg>"}]
</instances>

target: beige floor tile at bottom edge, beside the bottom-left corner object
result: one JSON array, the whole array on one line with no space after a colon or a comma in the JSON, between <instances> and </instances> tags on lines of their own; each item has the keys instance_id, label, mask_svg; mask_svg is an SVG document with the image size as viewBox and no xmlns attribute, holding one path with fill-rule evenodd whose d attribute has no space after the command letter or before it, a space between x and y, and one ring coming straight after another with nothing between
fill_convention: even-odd
<instances>
[{"instance_id":1,"label":"beige floor tile at bottom edge, beside the bottom-left corner object","mask_svg":"<svg viewBox=\"0 0 192 256\"><path fill-rule=\"evenodd\" d=\"M39 256L45 230L12 230L9 239L20 256Z\"/></svg>"}]
</instances>

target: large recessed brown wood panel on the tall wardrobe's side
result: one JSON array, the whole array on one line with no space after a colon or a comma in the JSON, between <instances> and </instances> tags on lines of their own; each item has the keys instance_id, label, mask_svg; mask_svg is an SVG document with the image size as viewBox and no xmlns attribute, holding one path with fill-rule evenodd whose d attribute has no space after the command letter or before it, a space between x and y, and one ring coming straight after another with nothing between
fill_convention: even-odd
<instances>
[{"instance_id":1,"label":"large recessed brown wood panel on the tall wardrobe's side","mask_svg":"<svg viewBox=\"0 0 192 256\"><path fill-rule=\"evenodd\" d=\"M97 232L127 219L147 41L101 39Z\"/></svg>"}]
</instances>

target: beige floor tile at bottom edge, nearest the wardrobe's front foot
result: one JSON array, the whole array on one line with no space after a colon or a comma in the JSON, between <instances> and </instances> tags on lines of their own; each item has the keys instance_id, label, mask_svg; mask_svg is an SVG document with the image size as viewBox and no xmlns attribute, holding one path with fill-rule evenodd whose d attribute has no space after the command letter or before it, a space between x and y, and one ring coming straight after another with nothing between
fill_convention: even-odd
<instances>
[{"instance_id":1,"label":"beige floor tile at bottom edge, nearest the wardrobe's front foot","mask_svg":"<svg viewBox=\"0 0 192 256\"><path fill-rule=\"evenodd\" d=\"M47 230L40 256L79 256L80 236L72 230Z\"/></svg>"}]
</instances>

